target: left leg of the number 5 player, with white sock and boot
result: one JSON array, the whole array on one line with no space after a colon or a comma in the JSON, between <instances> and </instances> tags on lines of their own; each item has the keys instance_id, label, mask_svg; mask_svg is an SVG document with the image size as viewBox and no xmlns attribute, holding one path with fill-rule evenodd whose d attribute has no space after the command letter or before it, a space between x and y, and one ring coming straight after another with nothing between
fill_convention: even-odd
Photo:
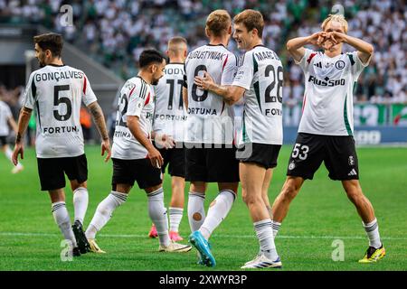
<instances>
[{"instance_id":1,"label":"left leg of the number 5 player, with white sock and boot","mask_svg":"<svg viewBox=\"0 0 407 289\"><path fill-rule=\"evenodd\" d=\"M65 192L62 189L49 191L52 203L52 216L61 229L63 238L69 242L73 256L80 256L76 238L71 228L71 218L65 203Z\"/></svg>"}]
</instances>

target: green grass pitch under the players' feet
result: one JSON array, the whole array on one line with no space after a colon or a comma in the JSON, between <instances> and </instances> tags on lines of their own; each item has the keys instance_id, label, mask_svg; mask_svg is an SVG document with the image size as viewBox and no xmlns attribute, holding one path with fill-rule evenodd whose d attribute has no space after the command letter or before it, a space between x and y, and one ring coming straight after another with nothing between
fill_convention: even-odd
<instances>
[{"instance_id":1,"label":"green grass pitch under the players' feet","mask_svg":"<svg viewBox=\"0 0 407 289\"><path fill-rule=\"evenodd\" d=\"M284 146L279 154L270 185L271 201L284 182L290 148ZM102 162L99 147L88 146L86 153L90 172L87 226L99 201L110 191L112 168L111 163ZM387 256L377 264L357 263L368 245L361 220L341 183L329 181L322 165L314 181L306 182L292 203L276 238L283 270L407 269L407 149L359 148L358 154L362 188L374 205ZM98 235L99 246L108 254L86 254L62 262L62 235L52 219L48 194L40 191L33 149L26 150L23 163L24 172L13 175L11 164L0 154L0 270L239 270L257 254L258 241L241 196L211 238L218 264L215 268L196 265L194 251L159 253L158 241L147 238L151 225L147 197L134 188L127 203L115 211ZM170 189L166 177L166 204ZM216 193L215 186L210 186L206 208ZM66 195L73 218L71 189ZM186 202L180 232L186 239ZM332 259L337 249L333 242L338 239L344 245L344 261Z\"/></svg>"}]
</instances>

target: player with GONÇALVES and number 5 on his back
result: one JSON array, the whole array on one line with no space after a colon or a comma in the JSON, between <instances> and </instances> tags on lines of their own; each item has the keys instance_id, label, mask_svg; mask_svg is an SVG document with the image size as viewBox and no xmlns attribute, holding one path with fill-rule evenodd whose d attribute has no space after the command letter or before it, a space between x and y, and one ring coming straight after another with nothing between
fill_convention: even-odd
<instances>
[{"instance_id":1,"label":"player with GON\u00c7ALVES and number 5 on his back","mask_svg":"<svg viewBox=\"0 0 407 289\"><path fill-rule=\"evenodd\" d=\"M23 108L18 120L18 132L13 152L13 162L18 155L24 157L23 135L33 109L37 116L35 150L38 161L41 190L49 191L52 215L69 241L73 256L90 250L82 229L88 208L88 167L84 154L83 135L80 127L81 102L90 109L98 126L102 155L110 158L110 143L103 112L90 88L90 82L81 70L64 65L61 58L62 36L47 33L35 36L35 54L42 69L35 70L25 89ZM73 191L74 224L65 205L65 175Z\"/></svg>"}]
</instances>

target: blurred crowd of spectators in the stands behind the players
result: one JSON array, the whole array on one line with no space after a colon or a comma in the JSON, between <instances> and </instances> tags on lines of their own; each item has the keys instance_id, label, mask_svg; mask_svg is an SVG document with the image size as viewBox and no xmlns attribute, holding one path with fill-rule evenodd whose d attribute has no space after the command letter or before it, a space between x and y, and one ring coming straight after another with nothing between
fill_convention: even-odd
<instances>
[{"instance_id":1,"label":"blurred crowd of spectators in the stands behind the players","mask_svg":"<svg viewBox=\"0 0 407 289\"><path fill-rule=\"evenodd\" d=\"M65 4L73 7L74 24L67 27L60 19ZM266 22L265 45L278 52L285 67L284 100L295 105L302 101L303 73L288 58L285 43L319 31L332 5L333 1L323 0L0 0L0 23L43 24L127 79L137 73L135 62L146 47L166 51L166 42L174 35L184 36L191 50L204 44L205 18L213 10L226 9L234 16L245 8L257 9ZM341 5L349 34L373 43L375 49L358 81L355 101L406 103L407 4L345 0ZM233 41L230 48L238 52Z\"/></svg>"}]
</instances>

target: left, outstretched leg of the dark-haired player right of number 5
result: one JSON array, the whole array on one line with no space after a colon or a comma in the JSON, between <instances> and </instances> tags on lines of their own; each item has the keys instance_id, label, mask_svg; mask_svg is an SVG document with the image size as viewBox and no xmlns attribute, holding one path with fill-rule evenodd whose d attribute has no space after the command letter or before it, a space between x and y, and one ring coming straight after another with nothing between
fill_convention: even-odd
<instances>
[{"instance_id":1,"label":"left, outstretched leg of the dark-haired player right of number 5","mask_svg":"<svg viewBox=\"0 0 407 289\"><path fill-rule=\"evenodd\" d=\"M125 201L128 199L128 193L131 188L132 186L127 183L118 183L113 186L108 197L99 203L95 215L90 221L90 225L85 232L86 238L88 238L90 243L90 250L92 252L106 253L96 244L96 233L108 223L113 211L125 203Z\"/></svg>"}]
</instances>

